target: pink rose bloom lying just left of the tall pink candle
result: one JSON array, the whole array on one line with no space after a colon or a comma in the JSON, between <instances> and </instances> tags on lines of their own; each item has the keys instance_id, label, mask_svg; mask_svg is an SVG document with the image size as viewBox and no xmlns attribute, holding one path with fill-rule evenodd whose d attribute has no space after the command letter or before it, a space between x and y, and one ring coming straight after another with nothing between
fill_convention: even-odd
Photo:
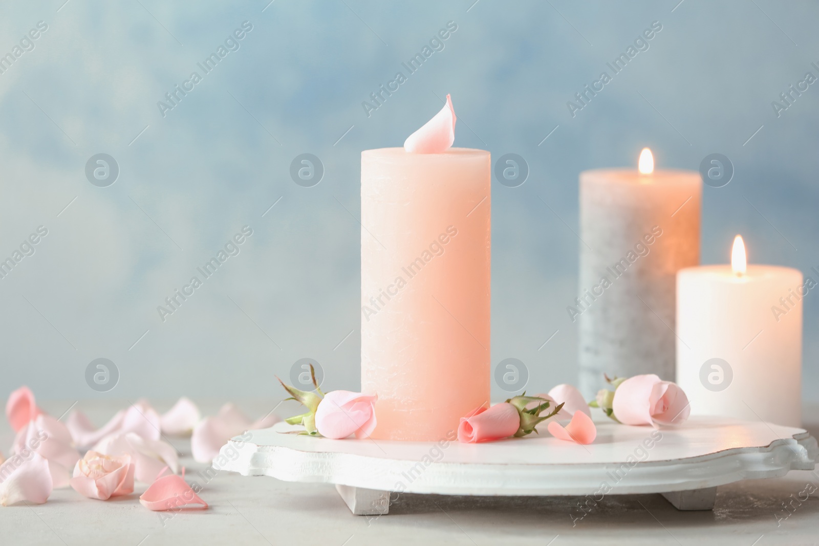
<instances>
[{"instance_id":1,"label":"pink rose bloom lying just left of the tall pink candle","mask_svg":"<svg viewBox=\"0 0 819 546\"><path fill-rule=\"evenodd\" d=\"M369 436L375 428L375 400L378 396L362 395L349 390L333 390L324 395L315 410L315 427L320 435L340 440L351 434Z\"/></svg>"}]
</instances>

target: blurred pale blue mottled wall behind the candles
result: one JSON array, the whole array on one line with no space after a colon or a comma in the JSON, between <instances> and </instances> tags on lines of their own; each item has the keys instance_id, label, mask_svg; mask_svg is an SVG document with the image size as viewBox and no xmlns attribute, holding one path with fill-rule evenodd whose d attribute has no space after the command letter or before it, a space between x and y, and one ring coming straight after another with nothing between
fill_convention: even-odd
<instances>
[{"instance_id":1,"label":"blurred pale blue mottled wall behind the candles","mask_svg":"<svg viewBox=\"0 0 819 546\"><path fill-rule=\"evenodd\" d=\"M400 145L446 93L456 145L531 169L521 187L493 182L492 362L523 360L535 390L576 381L565 307L583 169L635 165L644 146L661 167L725 154L736 172L704 188L704 263L726 262L741 232L753 261L819 266L819 84L779 119L771 108L817 74L815 2L63 1L0 9L2 53L38 20L49 27L0 74L0 255L49 230L0 280L2 397L21 383L43 398L278 397L274 374L304 357L328 385L357 389L360 151ZM156 102L243 20L241 49L163 118ZM364 115L450 20L446 48ZM649 50L572 119L566 102L654 20ZM120 165L111 187L85 178L99 152ZM289 177L304 152L324 162L318 186ZM245 224L241 254L161 323L156 306ZM812 399L817 316L811 292ZM121 372L102 395L84 381L99 357Z\"/></svg>"}]
</instances>

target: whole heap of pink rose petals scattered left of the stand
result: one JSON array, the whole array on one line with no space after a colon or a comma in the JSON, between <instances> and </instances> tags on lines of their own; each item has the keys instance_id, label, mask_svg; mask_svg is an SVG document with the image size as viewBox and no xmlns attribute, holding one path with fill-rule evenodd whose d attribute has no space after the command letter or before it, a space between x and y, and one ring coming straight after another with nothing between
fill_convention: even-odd
<instances>
[{"instance_id":1,"label":"whole heap of pink rose petals scattered left of the stand","mask_svg":"<svg viewBox=\"0 0 819 546\"><path fill-rule=\"evenodd\" d=\"M105 500L133 493L136 480L151 484L140 502L152 510L178 509L186 504L207 508L183 477L175 475L178 454L172 445L160 440L162 433L183 435L197 427L211 432L215 429L216 435L206 432L193 442L206 445L215 456L231 436L278 421L278 417L268 415L250 422L232 404L222 408L218 416L202 420L196 404L181 398L163 415L147 402L138 401L97 429L79 411L72 413L66 424L43 413L25 386L11 393L6 414L16 438L9 458L4 460L0 455L0 504L45 503L54 488L67 485L88 498ZM200 427L203 423L206 426ZM75 446L92 445L80 458ZM203 462L210 462L210 458ZM169 468L174 474L161 476ZM182 472L184 476L184 468Z\"/></svg>"}]
</instances>

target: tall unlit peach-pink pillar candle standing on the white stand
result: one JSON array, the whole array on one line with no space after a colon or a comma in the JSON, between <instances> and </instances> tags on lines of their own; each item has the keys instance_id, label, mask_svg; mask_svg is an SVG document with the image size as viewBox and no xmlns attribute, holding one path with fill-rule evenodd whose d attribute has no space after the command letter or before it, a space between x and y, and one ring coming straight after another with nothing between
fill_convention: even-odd
<instances>
[{"instance_id":1,"label":"tall unlit peach-pink pillar candle standing on the white stand","mask_svg":"<svg viewBox=\"0 0 819 546\"><path fill-rule=\"evenodd\" d=\"M361 387L374 438L441 440L489 402L490 155L361 156Z\"/></svg>"}]
</instances>

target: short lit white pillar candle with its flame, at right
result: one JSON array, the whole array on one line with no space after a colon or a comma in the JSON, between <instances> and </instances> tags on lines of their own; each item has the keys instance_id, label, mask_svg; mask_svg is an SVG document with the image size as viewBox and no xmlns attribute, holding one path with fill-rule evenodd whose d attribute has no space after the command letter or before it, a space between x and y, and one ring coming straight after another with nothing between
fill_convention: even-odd
<instances>
[{"instance_id":1,"label":"short lit white pillar candle with its flame, at right","mask_svg":"<svg viewBox=\"0 0 819 546\"><path fill-rule=\"evenodd\" d=\"M746 266L737 236L731 265L677 274L676 382L692 415L801 426L802 273Z\"/></svg>"}]
</instances>

